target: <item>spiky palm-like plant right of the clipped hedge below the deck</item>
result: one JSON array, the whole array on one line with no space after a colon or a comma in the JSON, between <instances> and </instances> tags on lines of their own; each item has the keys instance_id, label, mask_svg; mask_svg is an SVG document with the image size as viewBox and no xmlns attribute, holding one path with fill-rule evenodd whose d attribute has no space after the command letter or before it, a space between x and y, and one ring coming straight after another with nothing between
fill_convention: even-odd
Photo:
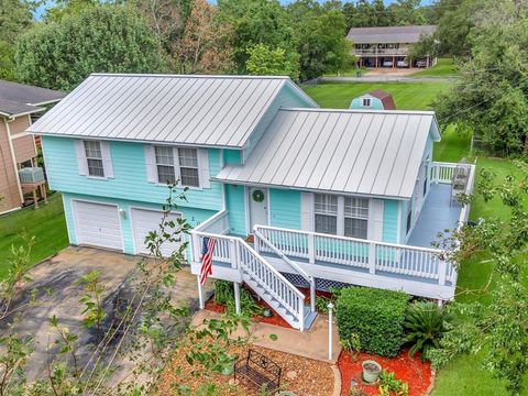
<instances>
[{"instance_id":1,"label":"spiky palm-like plant right of the clipped hedge below the deck","mask_svg":"<svg viewBox=\"0 0 528 396\"><path fill-rule=\"evenodd\" d=\"M447 326L452 316L446 307L435 302L418 301L409 305L404 326L407 330L406 342L411 343L409 354L421 352L421 359L427 359L431 348L439 348L440 339L450 330Z\"/></svg>"}]
</instances>

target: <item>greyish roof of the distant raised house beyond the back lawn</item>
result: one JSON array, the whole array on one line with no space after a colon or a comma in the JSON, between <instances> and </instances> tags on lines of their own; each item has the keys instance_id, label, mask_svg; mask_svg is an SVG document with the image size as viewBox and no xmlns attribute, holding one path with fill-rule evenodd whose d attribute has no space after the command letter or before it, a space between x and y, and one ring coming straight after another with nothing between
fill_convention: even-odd
<instances>
[{"instance_id":1,"label":"greyish roof of the distant raised house beyond the back lawn","mask_svg":"<svg viewBox=\"0 0 528 396\"><path fill-rule=\"evenodd\" d=\"M417 43L421 35L431 35L436 25L352 28L346 35L354 44Z\"/></svg>"}]
</instances>

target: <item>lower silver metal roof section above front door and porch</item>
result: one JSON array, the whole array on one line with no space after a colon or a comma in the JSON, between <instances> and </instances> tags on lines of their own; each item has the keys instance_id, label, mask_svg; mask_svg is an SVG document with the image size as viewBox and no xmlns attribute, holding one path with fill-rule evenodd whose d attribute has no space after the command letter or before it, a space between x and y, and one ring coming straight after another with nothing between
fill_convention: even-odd
<instances>
[{"instance_id":1,"label":"lower silver metal roof section above front door and porch","mask_svg":"<svg viewBox=\"0 0 528 396\"><path fill-rule=\"evenodd\" d=\"M245 165L216 178L407 199L430 132L440 139L431 111L283 109Z\"/></svg>"}]
</instances>

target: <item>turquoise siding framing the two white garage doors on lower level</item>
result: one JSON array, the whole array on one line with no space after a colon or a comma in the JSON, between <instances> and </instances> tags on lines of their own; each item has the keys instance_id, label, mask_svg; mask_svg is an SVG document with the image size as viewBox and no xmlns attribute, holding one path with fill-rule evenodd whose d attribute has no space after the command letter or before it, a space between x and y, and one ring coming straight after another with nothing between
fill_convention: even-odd
<instances>
[{"instance_id":1,"label":"turquoise siding framing the two white garage doors on lower level","mask_svg":"<svg viewBox=\"0 0 528 396\"><path fill-rule=\"evenodd\" d=\"M112 198L103 198L97 196L88 196L88 195L79 195L79 194L63 194L64 199L64 212L66 217L66 224L68 227L68 235L69 242L72 244L77 244L77 237L75 233L75 219L72 210L72 200L79 199L86 200L91 202L101 202L101 204L112 204L118 205L120 209L125 211L125 216L121 216L121 229L123 235L123 246L124 253L133 254L134 253L134 241L133 241L133 232L132 232L132 224L131 224L131 209L132 208L144 208L144 209L154 209L154 210L162 210L161 205L147 204L147 202L139 202L132 200L124 200L124 199L112 199ZM197 227L211 216L216 213L212 210L202 210L196 208L179 208L175 210L182 213L182 217L187 219L188 223L191 227Z\"/></svg>"}]
</instances>

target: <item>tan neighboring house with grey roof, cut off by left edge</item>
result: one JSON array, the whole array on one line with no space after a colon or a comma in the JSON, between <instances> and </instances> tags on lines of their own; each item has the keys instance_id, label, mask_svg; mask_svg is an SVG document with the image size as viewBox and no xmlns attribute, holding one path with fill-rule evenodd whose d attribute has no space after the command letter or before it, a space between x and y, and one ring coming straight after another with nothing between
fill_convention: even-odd
<instances>
[{"instance_id":1,"label":"tan neighboring house with grey roof, cut off by left edge","mask_svg":"<svg viewBox=\"0 0 528 396\"><path fill-rule=\"evenodd\" d=\"M42 169L35 163L35 140L25 130L32 117L65 96L51 89L0 80L0 213L21 208L26 193L35 197L40 188L45 195ZM21 172L22 168L26 169Z\"/></svg>"}]
</instances>

